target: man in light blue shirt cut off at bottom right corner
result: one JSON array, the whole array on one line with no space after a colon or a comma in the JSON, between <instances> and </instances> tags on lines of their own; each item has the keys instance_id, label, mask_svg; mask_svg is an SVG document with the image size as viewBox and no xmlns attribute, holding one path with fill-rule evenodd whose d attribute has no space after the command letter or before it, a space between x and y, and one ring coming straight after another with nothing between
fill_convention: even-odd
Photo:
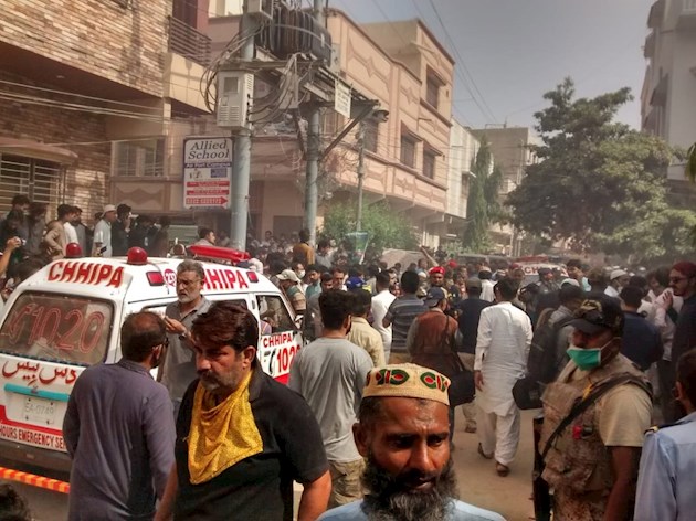
<instances>
[{"instance_id":1,"label":"man in light blue shirt cut off at bottom right corner","mask_svg":"<svg viewBox=\"0 0 696 521\"><path fill-rule=\"evenodd\" d=\"M687 520L696 513L696 349L677 363L677 400L687 415L648 432L639 470L635 521Z\"/></svg>"}]
</instances>

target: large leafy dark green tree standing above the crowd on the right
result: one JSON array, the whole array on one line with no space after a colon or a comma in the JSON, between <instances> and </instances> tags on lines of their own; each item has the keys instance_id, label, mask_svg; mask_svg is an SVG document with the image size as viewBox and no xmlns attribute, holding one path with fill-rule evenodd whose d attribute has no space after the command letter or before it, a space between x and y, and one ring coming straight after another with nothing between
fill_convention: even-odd
<instances>
[{"instance_id":1,"label":"large leafy dark green tree standing above the crowd on the right","mask_svg":"<svg viewBox=\"0 0 696 521\"><path fill-rule=\"evenodd\" d=\"M635 258L667 255L688 215L671 211L665 172L673 150L662 139L613 121L629 88L574 99L570 78L544 95L551 105L535 114L540 162L508 196L516 226L578 251ZM676 213L675 213L676 212ZM676 227L675 227L676 226Z\"/></svg>"}]
</instances>

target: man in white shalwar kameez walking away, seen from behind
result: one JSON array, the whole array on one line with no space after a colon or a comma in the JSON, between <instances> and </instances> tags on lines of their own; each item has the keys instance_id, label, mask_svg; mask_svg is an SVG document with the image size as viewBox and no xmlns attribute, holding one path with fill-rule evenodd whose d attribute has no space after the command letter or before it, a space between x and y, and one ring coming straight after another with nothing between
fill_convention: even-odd
<instances>
[{"instance_id":1,"label":"man in white shalwar kameez walking away, seen from behind","mask_svg":"<svg viewBox=\"0 0 696 521\"><path fill-rule=\"evenodd\" d=\"M512 304L516 296L515 280L496 284L498 304L481 312L474 362L478 453L486 459L495 457L499 476L509 474L519 444L513 386L525 375L532 334L529 317Z\"/></svg>"}]
</instances>

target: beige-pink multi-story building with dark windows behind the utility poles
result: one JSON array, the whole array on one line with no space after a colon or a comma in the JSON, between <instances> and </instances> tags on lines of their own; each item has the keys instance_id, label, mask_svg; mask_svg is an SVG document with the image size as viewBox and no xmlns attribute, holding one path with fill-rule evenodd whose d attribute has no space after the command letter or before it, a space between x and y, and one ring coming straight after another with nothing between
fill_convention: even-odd
<instances>
[{"instance_id":1,"label":"beige-pink multi-story building with dark windows behind the utility poles","mask_svg":"<svg viewBox=\"0 0 696 521\"><path fill-rule=\"evenodd\" d=\"M327 29L337 50L338 75L389 111L386 123L365 121L363 201L388 201L412 223L423 244L447 234L447 157L454 62L418 20L356 24L341 11L327 11ZM234 34L235 17L211 18L209 34L218 49ZM347 124L324 110L325 145ZM302 226L305 161L295 135L278 126L253 138L250 213L252 233L288 235ZM335 202L356 203L358 146L346 136L324 160L319 177L318 222ZM461 191L461 188L460 188Z\"/></svg>"}]
</instances>

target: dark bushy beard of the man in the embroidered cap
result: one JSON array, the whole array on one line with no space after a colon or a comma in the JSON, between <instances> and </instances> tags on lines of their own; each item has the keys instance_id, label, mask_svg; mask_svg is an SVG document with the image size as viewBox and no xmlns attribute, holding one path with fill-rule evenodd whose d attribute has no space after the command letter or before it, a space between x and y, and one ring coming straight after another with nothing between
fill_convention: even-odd
<instances>
[{"instance_id":1,"label":"dark bushy beard of the man in the embroidered cap","mask_svg":"<svg viewBox=\"0 0 696 521\"><path fill-rule=\"evenodd\" d=\"M378 466L372 454L362 475L365 495L362 511L370 521L443 521L447 507L458 498L452 458L440 475L411 470L392 476ZM432 480L432 488L413 490L419 482Z\"/></svg>"}]
</instances>

